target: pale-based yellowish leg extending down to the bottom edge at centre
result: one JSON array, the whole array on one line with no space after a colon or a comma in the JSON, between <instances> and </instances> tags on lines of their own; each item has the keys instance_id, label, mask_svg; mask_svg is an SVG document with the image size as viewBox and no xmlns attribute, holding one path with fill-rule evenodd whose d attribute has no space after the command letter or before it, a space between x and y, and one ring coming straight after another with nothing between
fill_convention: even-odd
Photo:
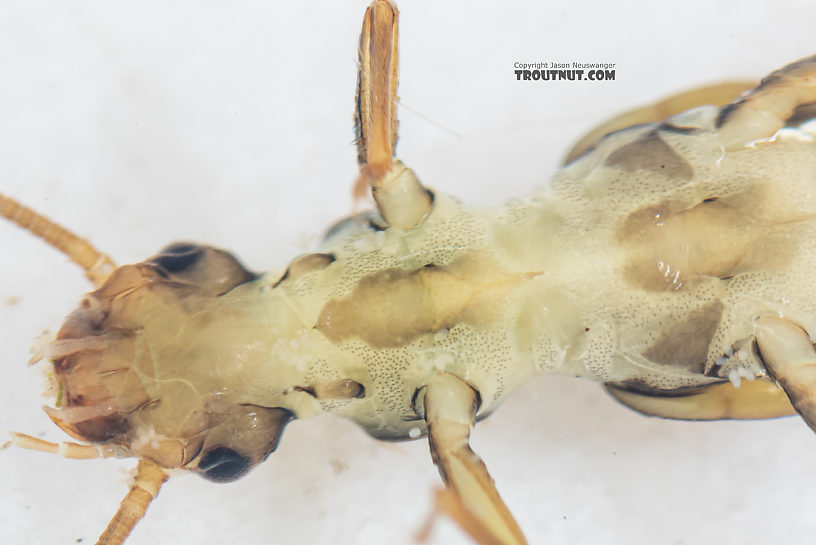
<instances>
[{"instance_id":1,"label":"pale-based yellowish leg extending down to the bottom edge at centre","mask_svg":"<svg viewBox=\"0 0 816 545\"><path fill-rule=\"evenodd\" d=\"M452 507L446 512L482 544L526 544L487 467L470 448L468 440L477 405L478 394L473 388L448 373L436 375L425 388L431 456L464 511L457 515Z\"/></svg>"}]
</instances>

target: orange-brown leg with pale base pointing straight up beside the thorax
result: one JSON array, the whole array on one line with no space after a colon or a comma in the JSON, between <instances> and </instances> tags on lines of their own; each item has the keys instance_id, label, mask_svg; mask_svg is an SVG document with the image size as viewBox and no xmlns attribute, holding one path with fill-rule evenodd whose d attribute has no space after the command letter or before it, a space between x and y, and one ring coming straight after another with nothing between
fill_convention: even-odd
<instances>
[{"instance_id":1,"label":"orange-brown leg with pale base pointing straight up beside the thorax","mask_svg":"<svg viewBox=\"0 0 816 545\"><path fill-rule=\"evenodd\" d=\"M397 145L397 27L399 12L387 0L375 0L366 10L358 51L357 161L360 177L355 195L367 186L382 217L391 227L416 226L431 207L431 196L414 172L394 161Z\"/></svg>"}]
</instances>

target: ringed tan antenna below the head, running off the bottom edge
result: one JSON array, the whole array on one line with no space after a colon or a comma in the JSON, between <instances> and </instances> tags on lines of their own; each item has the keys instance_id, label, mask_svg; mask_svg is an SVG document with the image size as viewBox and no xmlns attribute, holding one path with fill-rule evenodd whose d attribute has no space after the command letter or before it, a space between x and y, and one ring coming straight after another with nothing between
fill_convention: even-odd
<instances>
[{"instance_id":1,"label":"ringed tan antenna below the head, running off the bottom edge","mask_svg":"<svg viewBox=\"0 0 816 545\"><path fill-rule=\"evenodd\" d=\"M130 490L96 545L122 545L136 523L142 520L150 502L158 496L159 489L167 478L167 472L153 462L139 460L136 478L130 485Z\"/></svg>"}]
</instances>

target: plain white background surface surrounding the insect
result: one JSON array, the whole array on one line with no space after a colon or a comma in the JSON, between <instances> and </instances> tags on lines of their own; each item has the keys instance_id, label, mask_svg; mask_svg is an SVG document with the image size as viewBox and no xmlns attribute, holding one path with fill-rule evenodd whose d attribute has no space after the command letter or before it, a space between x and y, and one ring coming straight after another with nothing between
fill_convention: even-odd
<instances>
[{"instance_id":1,"label":"plain white background surface surrounding the insect","mask_svg":"<svg viewBox=\"0 0 816 545\"><path fill-rule=\"evenodd\" d=\"M362 2L11 4L0 9L0 191L120 263L194 239L256 270L282 266L350 211ZM485 205L545 184L607 116L814 52L804 0L400 7L400 95L421 115L401 109L398 154L427 185ZM537 60L614 62L617 79L515 81L514 62ZM89 286L10 224L0 249L0 434L62 440L39 408L51 402L42 370L25 362ZM816 440L795 418L662 421L595 384L542 377L480 424L474 445L531 543L816 534ZM93 542L133 465L0 452L0 542ZM438 482L423 441L296 422L235 484L171 480L129 543L409 544ZM469 543L449 523L432 541Z\"/></svg>"}]
</instances>

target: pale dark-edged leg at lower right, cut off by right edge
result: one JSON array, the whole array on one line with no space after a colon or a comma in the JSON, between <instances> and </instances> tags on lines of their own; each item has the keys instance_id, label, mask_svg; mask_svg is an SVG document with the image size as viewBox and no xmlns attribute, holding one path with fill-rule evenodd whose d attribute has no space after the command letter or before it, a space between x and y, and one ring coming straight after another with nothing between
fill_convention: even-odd
<instances>
[{"instance_id":1,"label":"pale dark-edged leg at lower right, cut off by right edge","mask_svg":"<svg viewBox=\"0 0 816 545\"><path fill-rule=\"evenodd\" d=\"M816 431L816 349L810 337L793 322L764 316L757 321L756 339L771 376Z\"/></svg>"}]
</instances>

